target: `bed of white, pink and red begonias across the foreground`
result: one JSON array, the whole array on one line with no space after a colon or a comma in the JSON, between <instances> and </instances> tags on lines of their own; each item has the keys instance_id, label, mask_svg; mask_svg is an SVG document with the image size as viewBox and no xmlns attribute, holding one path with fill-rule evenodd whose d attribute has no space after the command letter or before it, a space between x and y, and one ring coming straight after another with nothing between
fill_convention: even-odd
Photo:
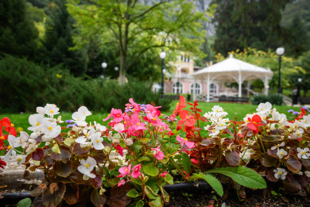
<instances>
[{"instance_id":1,"label":"bed of white, pink and red begonias across the foreground","mask_svg":"<svg viewBox=\"0 0 310 207\"><path fill-rule=\"evenodd\" d=\"M17 136L5 117L0 150L6 155L0 166L13 155L25 165L25 177L29 170L44 171L43 182L31 191L34 206L163 206L170 199L164 187L175 177L205 180L220 196L221 183L245 198L245 188L264 189L269 182L284 193L307 195L310 116L304 109L288 121L269 102L260 103L256 113L237 121L225 118L219 106L204 113L197 101L185 110L183 96L170 116L161 114L161 107L129 102L125 112L111 110L103 119L110 121L107 126L87 123L92 113L86 107L64 123L54 118L59 108L47 104L29 117L33 132ZM113 151L122 159L110 160Z\"/></svg>"}]
</instances>

